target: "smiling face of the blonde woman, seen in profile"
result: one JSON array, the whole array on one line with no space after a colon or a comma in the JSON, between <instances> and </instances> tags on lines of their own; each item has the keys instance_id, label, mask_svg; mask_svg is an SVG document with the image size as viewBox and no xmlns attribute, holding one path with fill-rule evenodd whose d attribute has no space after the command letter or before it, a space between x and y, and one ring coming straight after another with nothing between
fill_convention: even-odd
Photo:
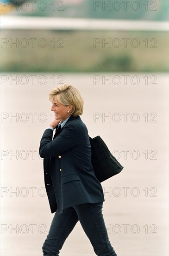
<instances>
[{"instance_id":1,"label":"smiling face of the blonde woman, seen in profile","mask_svg":"<svg viewBox=\"0 0 169 256\"><path fill-rule=\"evenodd\" d=\"M56 120L63 120L65 121L71 114L68 113L68 111L70 111L72 109L72 106L65 106L61 103L59 103L58 101L55 101L53 99L52 101L52 107L51 107L51 111L53 111L55 113L55 119Z\"/></svg>"}]
</instances>

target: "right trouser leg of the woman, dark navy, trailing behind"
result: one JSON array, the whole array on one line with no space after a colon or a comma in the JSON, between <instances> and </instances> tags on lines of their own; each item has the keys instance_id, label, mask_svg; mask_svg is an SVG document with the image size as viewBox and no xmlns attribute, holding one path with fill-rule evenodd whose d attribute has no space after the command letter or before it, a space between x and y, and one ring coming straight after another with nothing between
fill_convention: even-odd
<instances>
[{"instance_id":1,"label":"right trouser leg of the woman, dark navy, trailing behind","mask_svg":"<svg viewBox=\"0 0 169 256\"><path fill-rule=\"evenodd\" d=\"M75 209L82 228L98 256L117 256L109 241L102 215L103 202L76 205Z\"/></svg>"}]
</instances>

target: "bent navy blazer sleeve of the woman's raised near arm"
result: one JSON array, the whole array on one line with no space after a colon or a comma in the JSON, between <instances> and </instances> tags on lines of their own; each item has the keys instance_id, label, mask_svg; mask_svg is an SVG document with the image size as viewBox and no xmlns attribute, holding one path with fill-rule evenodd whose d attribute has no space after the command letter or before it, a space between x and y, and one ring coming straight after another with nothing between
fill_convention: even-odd
<instances>
[{"instance_id":1,"label":"bent navy blazer sleeve of the woman's raised near arm","mask_svg":"<svg viewBox=\"0 0 169 256\"><path fill-rule=\"evenodd\" d=\"M77 142L77 127L73 124L65 125L62 132L52 140L53 131L46 129L40 141L39 155L42 158L61 155Z\"/></svg>"}]
</instances>

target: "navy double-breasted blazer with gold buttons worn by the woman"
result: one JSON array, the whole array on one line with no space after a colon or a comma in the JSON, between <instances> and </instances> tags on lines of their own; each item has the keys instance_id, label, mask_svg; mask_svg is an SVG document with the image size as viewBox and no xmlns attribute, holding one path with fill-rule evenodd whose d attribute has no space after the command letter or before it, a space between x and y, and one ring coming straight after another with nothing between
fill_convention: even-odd
<instances>
[{"instance_id":1,"label":"navy double-breasted blazer with gold buttons worn by the woman","mask_svg":"<svg viewBox=\"0 0 169 256\"><path fill-rule=\"evenodd\" d=\"M44 158L44 182L51 213L82 204L104 201L103 189L94 174L88 129L80 116L72 115L52 140L44 131L39 155Z\"/></svg>"}]
</instances>

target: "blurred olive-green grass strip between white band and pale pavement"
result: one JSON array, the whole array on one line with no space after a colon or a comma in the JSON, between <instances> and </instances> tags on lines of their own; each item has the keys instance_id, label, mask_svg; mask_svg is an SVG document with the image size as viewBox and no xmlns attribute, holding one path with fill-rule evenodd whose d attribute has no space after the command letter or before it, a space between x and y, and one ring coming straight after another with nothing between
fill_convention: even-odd
<instances>
[{"instance_id":1,"label":"blurred olive-green grass strip between white band and pale pavement","mask_svg":"<svg viewBox=\"0 0 169 256\"><path fill-rule=\"evenodd\" d=\"M1 71L12 72L167 72L167 32L6 31ZM17 41L18 45L11 42ZM26 40L23 40L23 39ZM34 48L31 38L36 38ZM95 45L94 38L101 43ZM103 40L111 39L111 47ZM124 38L126 41L125 47ZM133 39L137 40L133 40ZM45 40L42 40L45 39ZM114 40L113 39L117 39ZM100 42L99 40L99 42ZM133 40L133 41L131 41ZM131 42L132 45L131 45ZM26 43L29 43L27 47ZM47 44L46 47L43 46ZM140 44L139 47L137 44ZM55 45L54 45L55 44ZM121 44L120 47L119 44ZM40 47L40 45L42 47Z\"/></svg>"}]
</instances>

